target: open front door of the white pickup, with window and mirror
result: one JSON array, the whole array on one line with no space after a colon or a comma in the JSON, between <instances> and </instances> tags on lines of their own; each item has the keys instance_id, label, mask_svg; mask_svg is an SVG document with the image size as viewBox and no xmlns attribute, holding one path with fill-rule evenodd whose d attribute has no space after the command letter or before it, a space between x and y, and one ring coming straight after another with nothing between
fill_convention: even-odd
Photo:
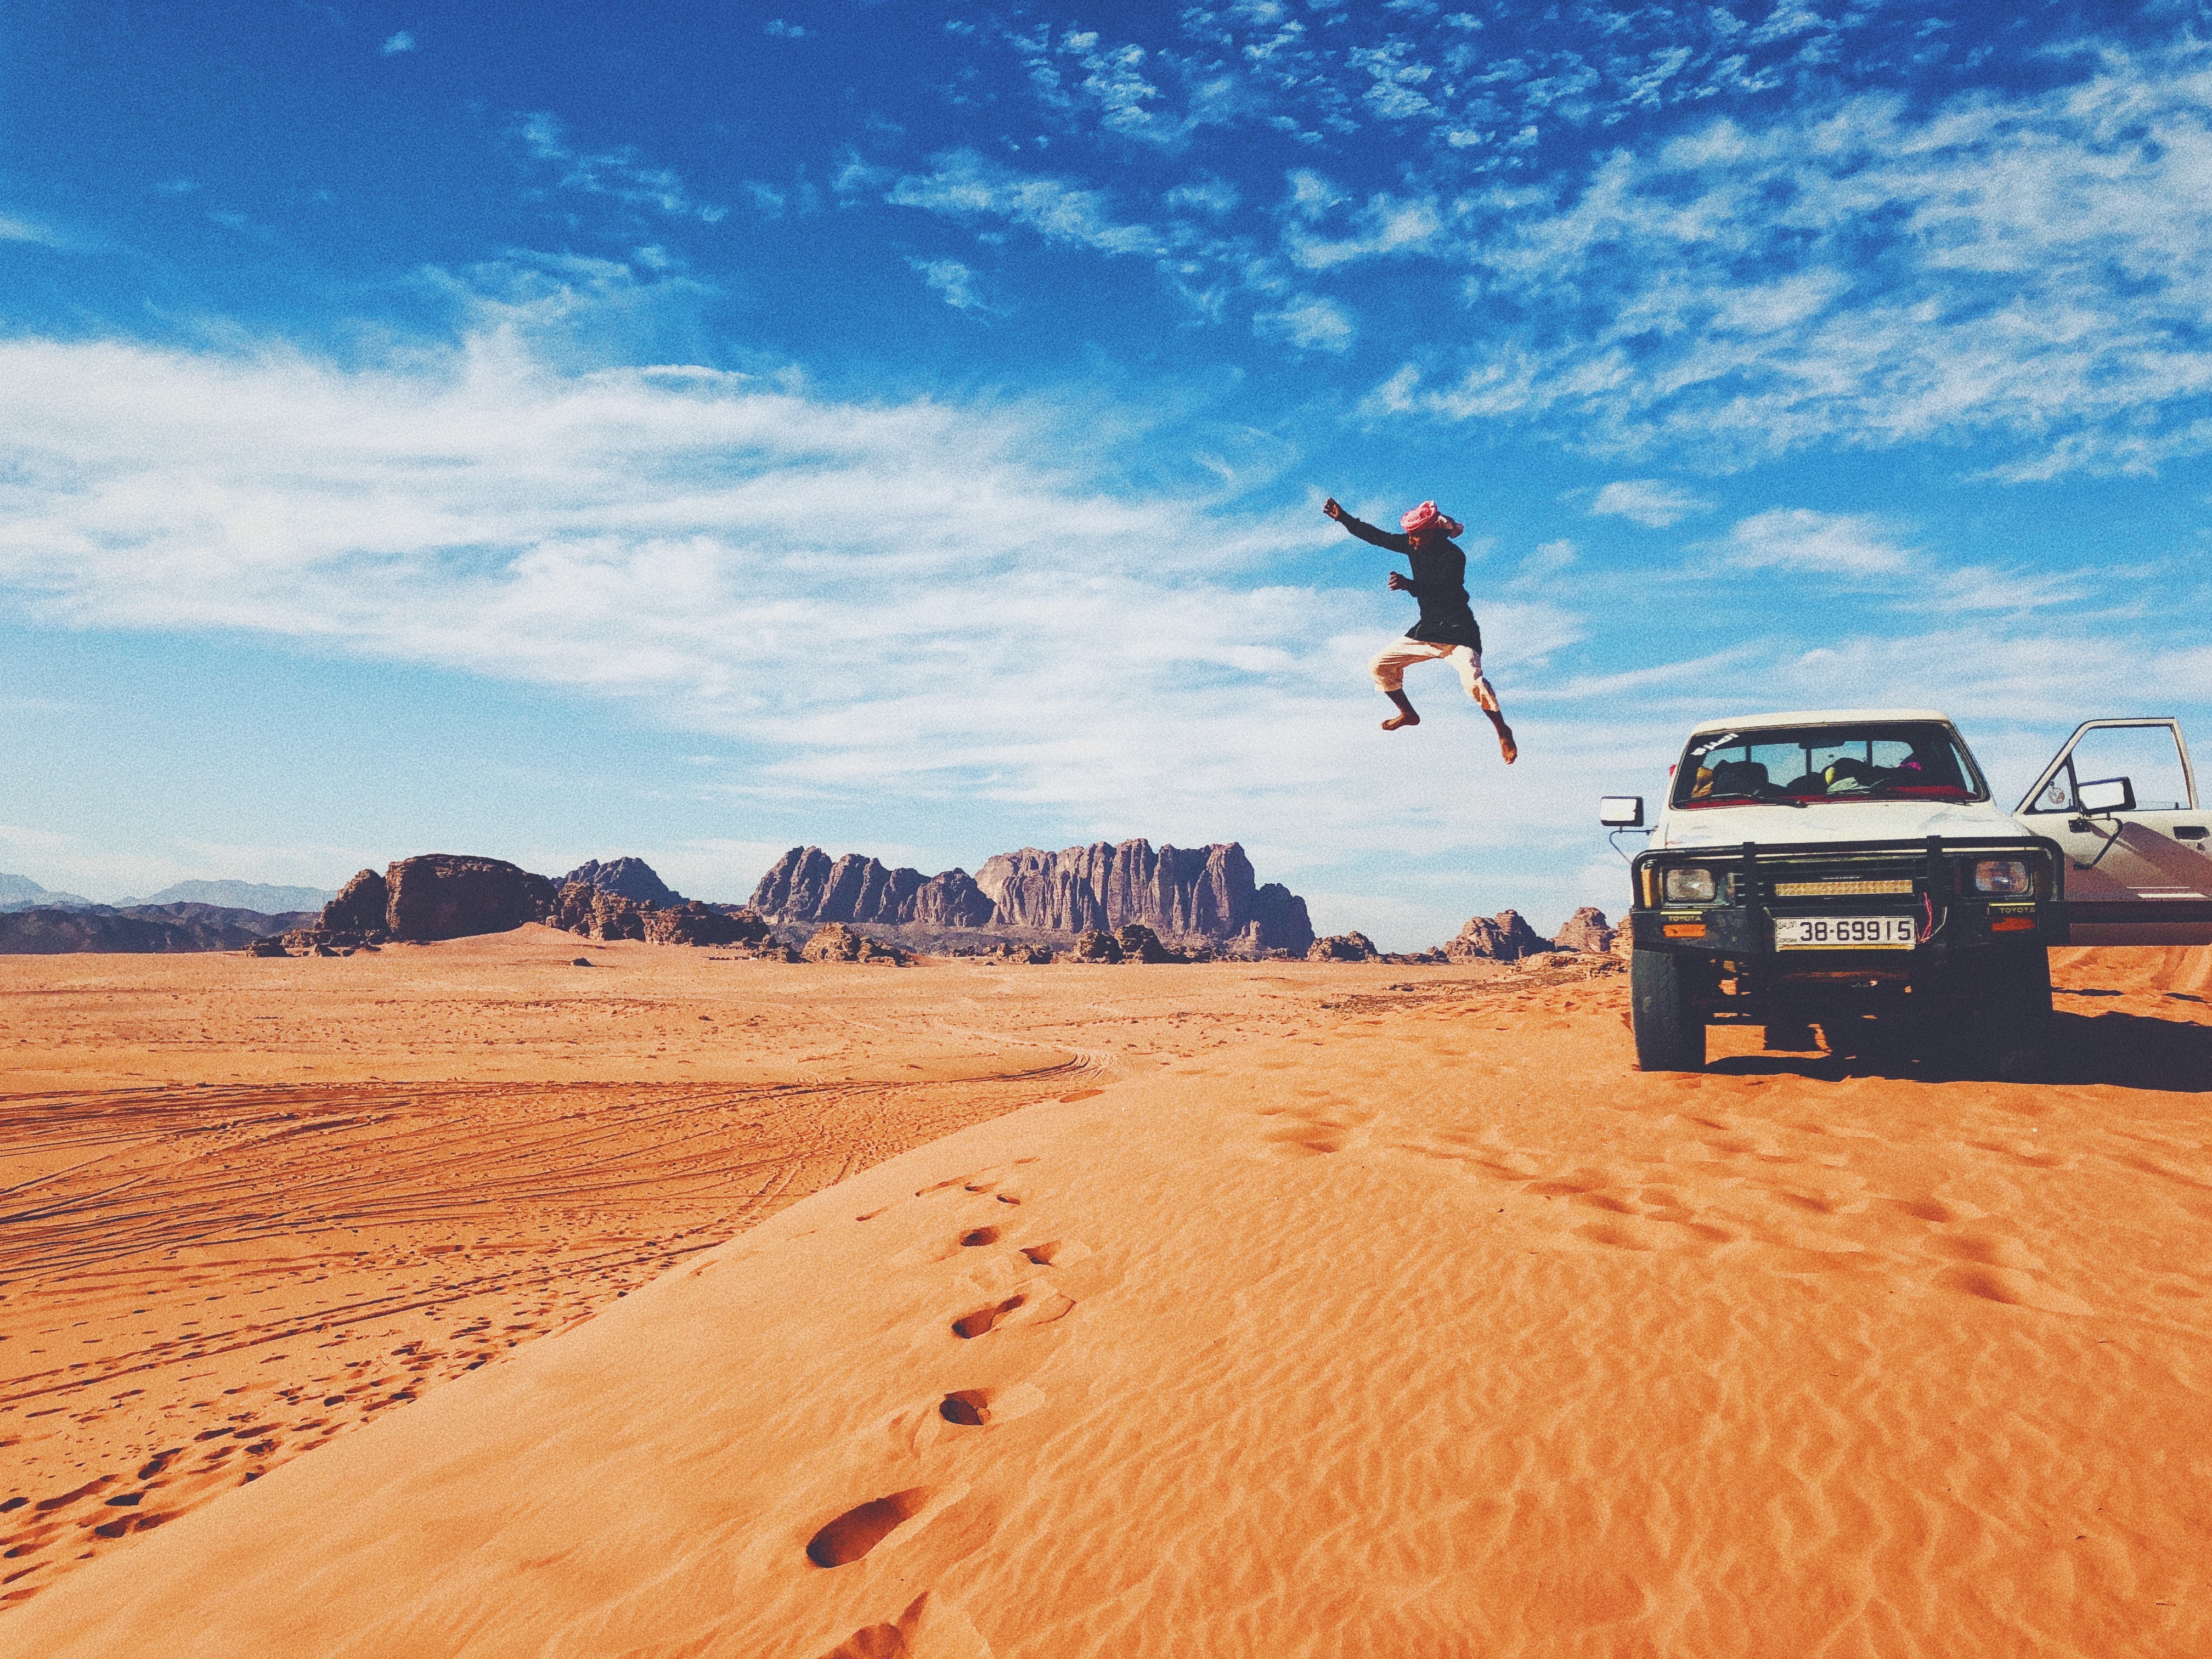
<instances>
[{"instance_id":1,"label":"open front door of the white pickup, with window and mirror","mask_svg":"<svg viewBox=\"0 0 2212 1659\"><path fill-rule=\"evenodd\" d=\"M2181 721L2084 721L2013 816L2066 849L2075 945L2212 945L2212 812Z\"/></svg>"}]
</instances>

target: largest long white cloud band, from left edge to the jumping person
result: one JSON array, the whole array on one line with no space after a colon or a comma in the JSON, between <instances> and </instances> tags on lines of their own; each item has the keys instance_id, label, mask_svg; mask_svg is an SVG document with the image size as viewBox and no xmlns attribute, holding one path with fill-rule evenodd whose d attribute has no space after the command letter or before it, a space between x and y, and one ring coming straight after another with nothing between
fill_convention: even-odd
<instances>
[{"instance_id":1,"label":"largest long white cloud band, from left edge to the jumping person","mask_svg":"<svg viewBox=\"0 0 2212 1659\"><path fill-rule=\"evenodd\" d=\"M0 588L44 626L261 635L622 699L801 794L1183 841L1283 814L1316 847L1387 834L1336 785L1371 748L1363 664L1402 626L1389 595L1365 566L1356 591L1267 577L1340 540L1307 511L1071 478L1077 429L1091 411L557 374L513 330L383 372L9 341ZM1579 633L1548 606L1486 622L1502 677ZM823 672L832 639L856 672Z\"/></svg>"}]
</instances>

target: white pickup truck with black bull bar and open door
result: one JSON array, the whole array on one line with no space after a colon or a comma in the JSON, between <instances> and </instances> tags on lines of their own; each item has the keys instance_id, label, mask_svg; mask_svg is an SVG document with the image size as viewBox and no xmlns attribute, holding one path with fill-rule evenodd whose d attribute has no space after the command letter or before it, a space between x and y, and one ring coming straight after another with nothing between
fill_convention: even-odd
<instances>
[{"instance_id":1,"label":"white pickup truck with black bull bar and open door","mask_svg":"<svg viewBox=\"0 0 2212 1659\"><path fill-rule=\"evenodd\" d=\"M1644 830L1641 796L1599 818ZM2051 1022L2053 945L2212 942L2212 814L2172 719L2075 730L2011 812L1936 710L1705 721L1630 860L1637 1064L1708 1024L1856 1053L1880 1033L2002 1071Z\"/></svg>"}]
</instances>

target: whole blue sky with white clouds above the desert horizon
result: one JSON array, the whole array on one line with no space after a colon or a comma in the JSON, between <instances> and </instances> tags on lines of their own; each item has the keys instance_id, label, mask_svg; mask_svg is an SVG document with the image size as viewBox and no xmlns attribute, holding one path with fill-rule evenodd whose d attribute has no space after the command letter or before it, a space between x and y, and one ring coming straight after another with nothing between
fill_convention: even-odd
<instances>
[{"instance_id":1,"label":"whole blue sky with white clouds above the desert horizon","mask_svg":"<svg viewBox=\"0 0 2212 1659\"><path fill-rule=\"evenodd\" d=\"M2212 754L2212 9L0 7L0 867L1619 909L1688 721ZM1329 526L1469 526L1498 763Z\"/></svg>"}]
</instances>

